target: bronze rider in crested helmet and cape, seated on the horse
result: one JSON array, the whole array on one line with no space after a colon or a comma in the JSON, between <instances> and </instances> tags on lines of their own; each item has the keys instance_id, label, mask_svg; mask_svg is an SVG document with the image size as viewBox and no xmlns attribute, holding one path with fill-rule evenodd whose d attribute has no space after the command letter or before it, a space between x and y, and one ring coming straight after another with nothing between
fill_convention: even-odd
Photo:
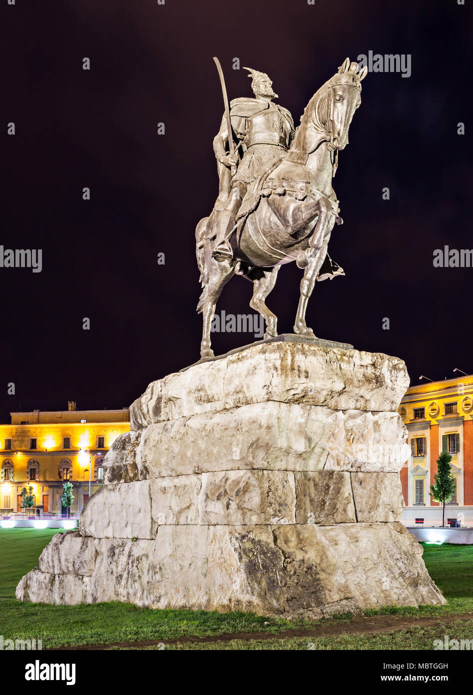
<instances>
[{"instance_id":1,"label":"bronze rider in crested helmet and cape, seated on the horse","mask_svg":"<svg viewBox=\"0 0 473 695\"><path fill-rule=\"evenodd\" d=\"M255 99L242 97L230 103L231 126L235 138L235 154L226 152L229 140L226 118L213 141L215 157L219 162L219 197L215 204L215 223L212 236L217 236L212 253L217 261L233 257L229 238L235 227L236 216L250 183L275 159L283 158L294 139L294 123L290 112L273 104L277 98L272 81L265 72L245 67L252 78L251 90ZM233 137L233 134L231 134ZM239 163L238 149L244 153ZM238 167L233 174L235 167Z\"/></svg>"}]
</instances>

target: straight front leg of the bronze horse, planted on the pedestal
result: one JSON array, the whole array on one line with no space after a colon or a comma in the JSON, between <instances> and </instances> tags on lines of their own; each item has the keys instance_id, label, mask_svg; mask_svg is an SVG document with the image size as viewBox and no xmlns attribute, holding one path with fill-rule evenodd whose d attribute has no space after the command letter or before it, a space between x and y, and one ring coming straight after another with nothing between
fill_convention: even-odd
<instances>
[{"instance_id":1,"label":"straight front leg of the bronze horse, planted on the pedestal","mask_svg":"<svg viewBox=\"0 0 473 695\"><path fill-rule=\"evenodd\" d=\"M297 306L294 333L297 333L299 336L304 336L304 338L317 337L313 330L306 325L306 311L308 300L313 292L320 268L322 268L322 263L324 262L329 245L331 231L335 224L335 213L329 212L327 207L326 205L322 206L319 219L315 225L313 240L311 239L308 249L303 252L304 259L307 259L308 264L304 270L304 277L301 280L301 296L299 297L299 305ZM330 206L330 210L331 209ZM320 224L321 228L317 229ZM297 265L299 265L299 262Z\"/></svg>"}]
</instances>

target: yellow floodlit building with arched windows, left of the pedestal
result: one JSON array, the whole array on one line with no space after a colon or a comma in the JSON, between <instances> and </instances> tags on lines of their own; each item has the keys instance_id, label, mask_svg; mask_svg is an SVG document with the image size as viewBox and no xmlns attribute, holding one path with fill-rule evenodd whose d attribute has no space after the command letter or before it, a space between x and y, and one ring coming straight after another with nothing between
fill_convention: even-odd
<instances>
[{"instance_id":1,"label":"yellow floodlit building with arched windows, left of the pedestal","mask_svg":"<svg viewBox=\"0 0 473 695\"><path fill-rule=\"evenodd\" d=\"M103 457L119 434L128 432L129 412L76 410L10 413L0 425L0 513L22 515L21 493L33 487L32 514L61 516L63 483L72 482L72 516L103 482ZM89 483L90 480L90 483ZM27 511L26 511L27 514Z\"/></svg>"}]
</instances>

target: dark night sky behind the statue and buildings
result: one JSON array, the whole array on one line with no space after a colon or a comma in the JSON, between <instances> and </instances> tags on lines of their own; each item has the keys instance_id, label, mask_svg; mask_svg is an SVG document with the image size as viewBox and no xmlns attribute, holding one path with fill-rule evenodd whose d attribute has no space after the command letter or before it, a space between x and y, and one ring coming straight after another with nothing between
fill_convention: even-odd
<instances>
[{"instance_id":1,"label":"dark night sky behind the statue and buildings","mask_svg":"<svg viewBox=\"0 0 473 695\"><path fill-rule=\"evenodd\" d=\"M232 70L238 57L269 73L297 124L347 56L412 56L410 78L363 81L334 181L345 224L329 252L346 277L316 284L308 325L405 359L412 383L421 373L452 377L454 367L472 373L473 268L433 268L434 249L473 247L470 8L469 0L4 0L0 244L41 248L43 269L0 268L0 420L67 400L125 407L153 379L199 359L194 229L217 195L214 55L231 99L251 95L247 73ZM12 121L16 135L7 136ZM286 265L269 296L280 332L292 332L300 277ZM249 313L250 297L249 282L235 277L217 311ZM213 334L213 347L252 339Z\"/></svg>"}]
</instances>

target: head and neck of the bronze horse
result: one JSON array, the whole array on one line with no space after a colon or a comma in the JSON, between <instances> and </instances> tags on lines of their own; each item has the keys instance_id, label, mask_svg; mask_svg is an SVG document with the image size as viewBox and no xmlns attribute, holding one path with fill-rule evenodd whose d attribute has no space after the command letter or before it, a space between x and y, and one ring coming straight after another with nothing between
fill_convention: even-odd
<instances>
[{"instance_id":1,"label":"head and neck of the bronze horse","mask_svg":"<svg viewBox=\"0 0 473 695\"><path fill-rule=\"evenodd\" d=\"M291 149L310 154L324 141L328 142L330 152L348 145L348 129L360 106L361 81L367 72L367 67L358 72L358 63L350 63L349 58L340 65L310 99Z\"/></svg>"}]
</instances>

